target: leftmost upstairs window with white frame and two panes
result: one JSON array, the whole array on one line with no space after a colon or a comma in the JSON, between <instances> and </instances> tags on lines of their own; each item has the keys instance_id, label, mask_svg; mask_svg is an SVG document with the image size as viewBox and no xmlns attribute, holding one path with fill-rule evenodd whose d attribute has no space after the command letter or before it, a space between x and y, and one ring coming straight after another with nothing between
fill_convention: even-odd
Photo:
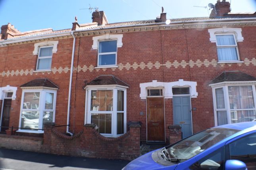
<instances>
[{"instance_id":1,"label":"leftmost upstairs window with white frame and two panes","mask_svg":"<svg viewBox=\"0 0 256 170\"><path fill-rule=\"evenodd\" d=\"M53 47L40 47L37 59L37 70L51 69L52 49Z\"/></svg>"}]
</instances>

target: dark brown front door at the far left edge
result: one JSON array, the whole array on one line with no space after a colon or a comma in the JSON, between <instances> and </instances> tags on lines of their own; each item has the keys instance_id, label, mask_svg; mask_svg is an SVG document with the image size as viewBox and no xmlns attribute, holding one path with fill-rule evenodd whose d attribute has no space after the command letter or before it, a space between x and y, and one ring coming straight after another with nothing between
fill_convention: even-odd
<instances>
[{"instance_id":1,"label":"dark brown front door at the far left edge","mask_svg":"<svg viewBox=\"0 0 256 170\"><path fill-rule=\"evenodd\" d=\"M1 132L5 132L5 130L8 129L4 127L9 127L11 104L12 104L12 99L4 99Z\"/></svg>"}]
</instances>

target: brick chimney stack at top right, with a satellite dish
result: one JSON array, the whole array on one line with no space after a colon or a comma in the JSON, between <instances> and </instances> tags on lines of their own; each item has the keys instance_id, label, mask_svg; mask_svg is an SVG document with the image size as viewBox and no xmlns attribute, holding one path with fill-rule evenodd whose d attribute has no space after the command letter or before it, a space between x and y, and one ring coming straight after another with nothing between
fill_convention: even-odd
<instances>
[{"instance_id":1,"label":"brick chimney stack at top right, with a satellite dish","mask_svg":"<svg viewBox=\"0 0 256 170\"><path fill-rule=\"evenodd\" d=\"M210 18L218 18L218 17L225 17L227 13L230 12L230 3L226 2L226 0L217 0L215 7L212 9L210 14Z\"/></svg>"}]
</instances>

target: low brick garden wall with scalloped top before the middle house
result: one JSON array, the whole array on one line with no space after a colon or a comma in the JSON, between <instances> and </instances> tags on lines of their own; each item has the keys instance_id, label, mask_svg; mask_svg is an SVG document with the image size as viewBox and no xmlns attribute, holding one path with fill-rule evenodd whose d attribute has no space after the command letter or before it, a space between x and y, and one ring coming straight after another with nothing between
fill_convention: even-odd
<instances>
[{"instance_id":1,"label":"low brick garden wall with scalloped top before the middle house","mask_svg":"<svg viewBox=\"0 0 256 170\"><path fill-rule=\"evenodd\" d=\"M140 155L140 125L130 125L130 130L118 138L105 138L87 124L75 136L66 136L54 123L44 124L42 152L106 159L132 160Z\"/></svg>"}]
</instances>

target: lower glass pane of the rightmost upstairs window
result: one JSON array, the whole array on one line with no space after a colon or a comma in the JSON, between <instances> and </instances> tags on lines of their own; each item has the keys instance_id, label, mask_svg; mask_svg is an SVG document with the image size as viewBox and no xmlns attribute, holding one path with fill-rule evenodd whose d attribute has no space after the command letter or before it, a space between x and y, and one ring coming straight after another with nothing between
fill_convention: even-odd
<instances>
[{"instance_id":1,"label":"lower glass pane of the rightmost upstairs window","mask_svg":"<svg viewBox=\"0 0 256 170\"><path fill-rule=\"evenodd\" d=\"M229 48L217 48L218 59L221 60L238 60L237 57L237 48L229 47Z\"/></svg>"}]
</instances>

